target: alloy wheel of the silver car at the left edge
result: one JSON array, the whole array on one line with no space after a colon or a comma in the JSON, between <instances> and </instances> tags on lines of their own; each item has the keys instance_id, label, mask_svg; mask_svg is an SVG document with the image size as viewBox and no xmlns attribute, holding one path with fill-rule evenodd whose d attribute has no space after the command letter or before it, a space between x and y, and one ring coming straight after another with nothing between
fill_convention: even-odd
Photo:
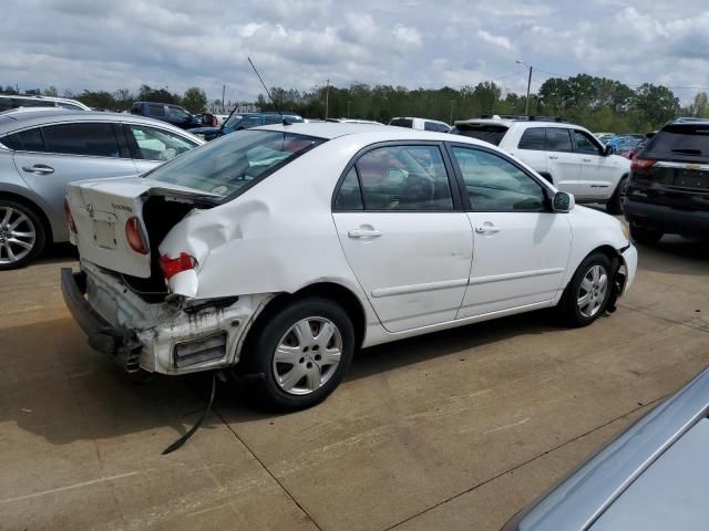
<instances>
[{"instance_id":1,"label":"alloy wheel of the silver car at the left edge","mask_svg":"<svg viewBox=\"0 0 709 531\"><path fill-rule=\"evenodd\" d=\"M28 207L0 199L0 271L27 266L44 247L44 229Z\"/></svg>"}]
</instances>

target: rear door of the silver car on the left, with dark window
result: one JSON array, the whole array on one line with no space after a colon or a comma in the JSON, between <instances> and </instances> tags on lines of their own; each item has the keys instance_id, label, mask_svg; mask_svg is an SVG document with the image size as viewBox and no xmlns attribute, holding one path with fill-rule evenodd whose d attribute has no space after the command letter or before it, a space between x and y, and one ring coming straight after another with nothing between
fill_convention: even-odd
<instances>
[{"instance_id":1,"label":"rear door of the silver car on the left, with dark window","mask_svg":"<svg viewBox=\"0 0 709 531\"><path fill-rule=\"evenodd\" d=\"M66 185L74 180L137 174L117 124L78 122L45 125L16 133L23 149L14 165L56 216L63 216ZM11 136L14 136L11 135Z\"/></svg>"}]
</instances>

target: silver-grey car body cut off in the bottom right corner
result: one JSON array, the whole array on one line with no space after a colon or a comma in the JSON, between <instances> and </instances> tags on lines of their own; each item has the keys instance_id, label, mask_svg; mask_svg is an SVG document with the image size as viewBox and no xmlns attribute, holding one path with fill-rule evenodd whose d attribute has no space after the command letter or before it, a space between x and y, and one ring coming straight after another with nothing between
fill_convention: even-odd
<instances>
[{"instance_id":1,"label":"silver-grey car body cut off in the bottom right corner","mask_svg":"<svg viewBox=\"0 0 709 531\"><path fill-rule=\"evenodd\" d=\"M709 369L579 466L503 531L706 529Z\"/></svg>"}]
</instances>

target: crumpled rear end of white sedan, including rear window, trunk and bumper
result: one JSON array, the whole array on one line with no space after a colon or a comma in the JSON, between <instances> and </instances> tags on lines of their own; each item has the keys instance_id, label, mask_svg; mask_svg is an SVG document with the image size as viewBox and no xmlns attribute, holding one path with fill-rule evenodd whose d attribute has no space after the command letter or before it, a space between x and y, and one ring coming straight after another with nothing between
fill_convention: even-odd
<instances>
[{"instance_id":1,"label":"crumpled rear end of white sedan, including rear window, trunk and bumper","mask_svg":"<svg viewBox=\"0 0 709 531\"><path fill-rule=\"evenodd\" d=\"M92 347L132 373L182 374L238 362L248 326L273 294L201 296L199 271L215 233L232 223L225 218L223 227L195 233L191 221L295 158L299 152L288 136L249 132L144 177L68 187L65 210L81 271L62 270L62 291ZM298 142L300 150L317 145Z\"/></svg>"}]
</instances>

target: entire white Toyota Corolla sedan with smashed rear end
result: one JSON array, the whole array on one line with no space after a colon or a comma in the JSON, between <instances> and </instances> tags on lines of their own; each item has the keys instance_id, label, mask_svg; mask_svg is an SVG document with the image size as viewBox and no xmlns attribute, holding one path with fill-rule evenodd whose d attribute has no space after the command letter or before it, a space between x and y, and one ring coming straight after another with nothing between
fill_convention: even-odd
<instances>
[{"instance_id":1,"label":"entire white Toyota Corolla sedan with smashed rear end","mask_svg":"<svg viewBox=\"0 0 709 531\"><path fill-rule=\"evenodd\" d=\"M230 371L317 404L353 353L557 306L595 321L630 285L621 223L462 136L360 124L227 135L142 177L72 184L64 299L129 372Z\"/></svg>"}]
</instances>

